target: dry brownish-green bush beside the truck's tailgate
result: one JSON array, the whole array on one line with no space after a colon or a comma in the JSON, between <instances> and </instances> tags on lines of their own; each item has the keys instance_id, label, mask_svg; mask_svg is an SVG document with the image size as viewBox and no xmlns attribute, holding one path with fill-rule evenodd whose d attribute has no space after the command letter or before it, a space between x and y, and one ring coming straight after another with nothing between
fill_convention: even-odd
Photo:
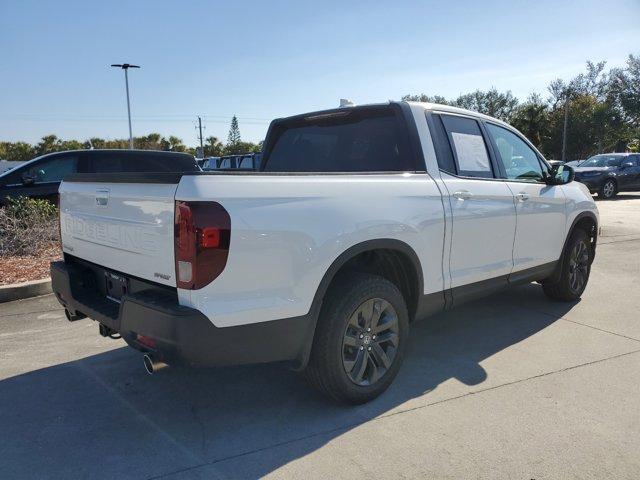
<instances>
[{"instance_id":1,"label":"dry brownish-green bush beside the truck's tailgate","mask_svg":"<svg viewBox=\"0 0 640 480\"><path fill-rule=\"evenodd\" d=\"M0 208L0 256L38 255L58 242L58 209L46 200L18 197Z\"/></svg>"}]
</instances>

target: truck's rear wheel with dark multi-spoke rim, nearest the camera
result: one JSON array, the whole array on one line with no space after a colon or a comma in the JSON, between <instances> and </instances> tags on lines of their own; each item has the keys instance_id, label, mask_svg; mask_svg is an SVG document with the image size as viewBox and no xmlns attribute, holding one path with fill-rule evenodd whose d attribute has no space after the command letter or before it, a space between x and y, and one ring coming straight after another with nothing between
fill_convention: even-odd
<instances>
[{"instance_id":1,"label":"truck's rear wheel with dark multi-spoke rim, nearest the camera","mask_svg":"<svg viewBox=\"0 0 640 480\"><path fill-rule=\"evenodd\" d=\"M377 275L346 274L325 296L303 374L336 402L366 403L396 377L408 331L407 306L393 283Z\"/></svg>"}]
</instances>

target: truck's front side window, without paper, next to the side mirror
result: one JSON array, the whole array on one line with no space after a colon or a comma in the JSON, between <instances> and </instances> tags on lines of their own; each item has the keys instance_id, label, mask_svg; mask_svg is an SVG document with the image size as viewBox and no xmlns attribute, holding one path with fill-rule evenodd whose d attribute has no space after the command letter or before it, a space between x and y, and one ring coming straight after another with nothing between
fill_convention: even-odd
<instances>
[{"instance_id":1,"label":"truck's front side window, without paper, next to the side mirror","mask_svg":"<svg viewBox=\"0 0 640 480\"><path fill-rule=\"evenodd\" d=\"M498 159L502 162L510 180L544 182L544 173L538 155L524 140L506 128L487 123L487 130L498 148Z\"/></svg>"}]
</instances>

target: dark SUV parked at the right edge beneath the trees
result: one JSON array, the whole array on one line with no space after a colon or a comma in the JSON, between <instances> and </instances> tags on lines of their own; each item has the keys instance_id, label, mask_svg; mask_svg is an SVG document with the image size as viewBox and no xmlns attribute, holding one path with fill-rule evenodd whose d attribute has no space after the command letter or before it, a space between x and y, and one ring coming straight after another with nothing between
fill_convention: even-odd
<instances>
[{"instance_id":1,"label":"dark SUV parked at the right edge beneath the trees","mask_svg":"<svg viewBox=\"0 0 640 480\"><path fill-rule=\"evenodd\" d=\"M591 193L609 199L618 192L640 190L640 154L603 153L574 168L575 179Z\"/></svg>"}]
</instances>

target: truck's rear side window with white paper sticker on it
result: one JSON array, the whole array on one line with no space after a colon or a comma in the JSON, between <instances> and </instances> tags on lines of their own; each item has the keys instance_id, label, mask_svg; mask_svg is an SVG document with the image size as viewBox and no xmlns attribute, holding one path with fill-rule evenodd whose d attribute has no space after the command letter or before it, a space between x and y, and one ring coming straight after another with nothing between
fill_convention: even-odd
<instances>
[{"instance_id":1,"label":"truck's rear side window with white paper sticker on it","mask_svg":"<svg viewBox=\"0 0 640 480\"><path fill-rule=\"evenodd\" d=\"M441 115L458 173L465 177L493 178L489 151L478 122L472 118Z\"/></svg>"}]
</instances>

